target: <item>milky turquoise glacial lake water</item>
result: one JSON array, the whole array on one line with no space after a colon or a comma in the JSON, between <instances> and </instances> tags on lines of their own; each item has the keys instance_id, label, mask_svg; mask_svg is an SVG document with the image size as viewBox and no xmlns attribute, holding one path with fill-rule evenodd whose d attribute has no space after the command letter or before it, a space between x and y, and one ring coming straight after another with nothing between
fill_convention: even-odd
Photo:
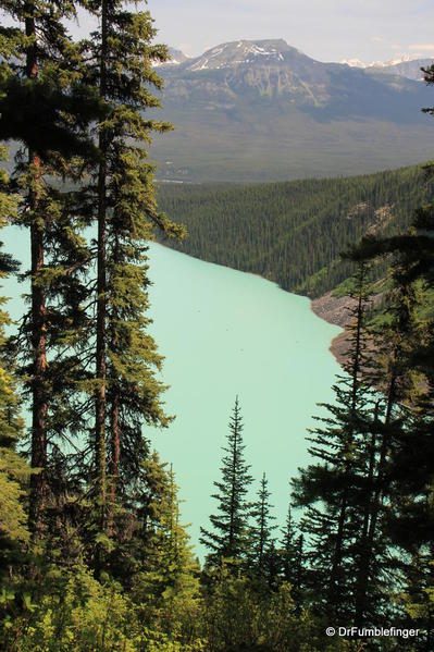
<instances>
[{"instance_id":1,"label":"milky turquoise glacial lake water","mask_svg":"<svg viewBox=\"0 0 434 652\"><path fill-rule=\"evenodd\" d=\"M5 249L28 265L28 235L8 229ZM309 462L307 429L332 399L339 367L328 350L340 329L319 319L309 299L280 290L253 274L202 262L161 245L149 251L153 319L151 331L164 355L162 380L169 414L164 430L146 435L173 464L181 487L182 516L191 524L195 549L200 526L215 509L213 481L220 479L222 446L238 395L244 417L245 456L255 478L265 472L278 525L289 497L289 479ZM14 280L3 282L9 308L18 318Z\"/></svg>"}]
</instances>

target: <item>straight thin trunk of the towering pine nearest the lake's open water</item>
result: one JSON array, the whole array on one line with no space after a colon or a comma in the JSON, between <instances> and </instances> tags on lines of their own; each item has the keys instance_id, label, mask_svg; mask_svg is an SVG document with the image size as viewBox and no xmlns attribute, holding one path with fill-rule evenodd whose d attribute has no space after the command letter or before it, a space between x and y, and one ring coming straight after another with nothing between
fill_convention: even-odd
<instances>
[{"instance_id":1,"label":"straight thin trunk of the towering pine nearest the lake's open water","mask_svg":"<svg viewBox=\"0 0 434 652\"><path fill-rule=\"evenodd\" d=\"M100 62L100 97L107 96L107 23L108 7L102 2L101 9L101 62ZM95 462L96 490L100 503L100 526L106 528L106 414L107 414L107 133L99 133L101 161L98 171L98 259L97 259L97 387L95 396Z\"/></svg>"}]
</instances>

